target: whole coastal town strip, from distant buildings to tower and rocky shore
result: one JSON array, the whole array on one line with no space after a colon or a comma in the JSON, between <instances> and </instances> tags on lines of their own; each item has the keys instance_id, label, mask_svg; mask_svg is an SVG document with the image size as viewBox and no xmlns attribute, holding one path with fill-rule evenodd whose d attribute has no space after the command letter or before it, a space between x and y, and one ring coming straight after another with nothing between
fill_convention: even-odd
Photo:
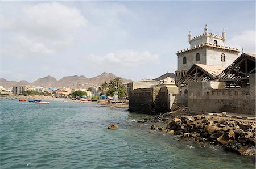
<instances>
[{"instance_id":1,"label":"whole coastal town strip, from distant buildings to tower and rocky shore","mask_svg":"<svg viewBox=\"0 0 256 169\"><path fill-rule=\"evenodd\" d=\"M189 32L190 47L177 51L175 74L128 83L114 77L88 88L16 85L11 90L1 87L1 96L23 99L46 96L44 99L119 105L130 112L153 115L138 121L141 124L153 122L152 130L180 135L202 146L217 144L226 150L252 156L256 138L256 55L226 47L225 40L225 29L222 35L208 32L208 26L199 36L192 37ZM32 93L35 96L31 96Z\"/></svg>"}]
</instances>

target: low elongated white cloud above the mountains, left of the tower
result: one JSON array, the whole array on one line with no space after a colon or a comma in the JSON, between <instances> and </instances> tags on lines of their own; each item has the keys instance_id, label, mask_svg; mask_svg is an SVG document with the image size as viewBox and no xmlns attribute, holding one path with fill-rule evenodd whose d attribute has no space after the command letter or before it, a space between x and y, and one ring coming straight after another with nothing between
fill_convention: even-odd
<instances>
[{"instance_id":1,"label":"low elongated white cloud above the mountains, left of the tower","mask_svg":"<svg viewBox=\"0 0 256 169\"><path fill-rule=\"evenodd\" d=\"M146 64L159 64L159 55L151 54L148 51L138 52L135 50L118 50L115 53L108 53L104 56L90 54L88 59L94 64L105 67L135 67Z\"/></svg>"}]
</instances>

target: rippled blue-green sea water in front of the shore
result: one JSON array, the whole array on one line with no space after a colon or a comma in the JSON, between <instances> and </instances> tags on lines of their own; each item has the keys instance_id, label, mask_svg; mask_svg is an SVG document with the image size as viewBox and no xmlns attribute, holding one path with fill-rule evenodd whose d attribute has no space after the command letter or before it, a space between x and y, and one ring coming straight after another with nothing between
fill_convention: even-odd
<instances>
[{"instance_id":1,"label":"rippled blue-green sea water in front of the shore","mask_svg":"<svg viewBox=\"0 0 256 169\"><path fill-rule=\"evenodd\" d=\"M255 168L255 159L150 130L98 104L0 99L0 168ZM109 124L118 124L109 130ZM164 126L165 124L163 124Z\"/></svg>"}]
</instances>

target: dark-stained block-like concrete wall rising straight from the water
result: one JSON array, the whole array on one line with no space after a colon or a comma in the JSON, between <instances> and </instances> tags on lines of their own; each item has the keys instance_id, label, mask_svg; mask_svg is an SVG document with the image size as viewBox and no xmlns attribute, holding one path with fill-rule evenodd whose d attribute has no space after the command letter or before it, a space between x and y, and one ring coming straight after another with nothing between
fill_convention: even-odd
<instances>
[{"instance_id":1,"label":"dark-stained block-like concrete wall rising straight from the water","mask_svg":"<svg viewBox=\"0 0 256 169\"><path fill-rule=\"evenodd\" d=\"M178 87L138 88L130 92L129 111L168 112L177 103L177 92Z\"/></svg>"}]
</instances>

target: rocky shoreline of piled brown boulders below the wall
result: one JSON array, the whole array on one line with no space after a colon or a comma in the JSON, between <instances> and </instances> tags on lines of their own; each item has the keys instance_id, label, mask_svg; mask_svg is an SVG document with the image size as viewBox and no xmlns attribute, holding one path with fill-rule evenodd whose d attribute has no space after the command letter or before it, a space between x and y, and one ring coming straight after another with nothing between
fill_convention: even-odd
<instances>
[{"instance_id":1,"label":"rocky shoreline of piled brown boulders below the wall","mask_svg":"<svg viewBox=\"0 0 256 169\"><path fill-rule=\"evenodd\" d=\"M202 147L209 144L220 145L227 151L255 156L255 120L197 115L181 110L144 118L138 122L153 122L155 124L151 126L152 130L180 135L181 139L191 140Z\"/></svg>"}]
</instances>

